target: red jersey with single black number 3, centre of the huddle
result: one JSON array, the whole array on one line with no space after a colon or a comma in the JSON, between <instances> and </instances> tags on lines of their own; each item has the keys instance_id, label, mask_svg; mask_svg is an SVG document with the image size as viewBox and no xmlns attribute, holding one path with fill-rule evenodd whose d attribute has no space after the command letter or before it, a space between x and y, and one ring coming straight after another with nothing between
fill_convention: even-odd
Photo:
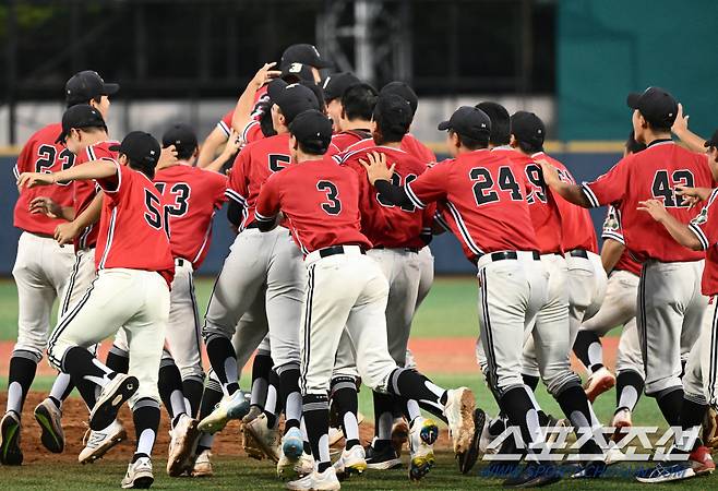
<instances>
[{"instance_id":1,"label":"red jersey with single black number 3, centre of the huddle","mask_svg":"<svg viewBox=\"0 0 718 491\"><path fill-rule=\"evenodd\" d=\"M261 219L279 211L303 254L332 246L371 248L361 233L359 177L326 160L295 164L271 176L256 203Z\"/></svg>"}]
</instances>

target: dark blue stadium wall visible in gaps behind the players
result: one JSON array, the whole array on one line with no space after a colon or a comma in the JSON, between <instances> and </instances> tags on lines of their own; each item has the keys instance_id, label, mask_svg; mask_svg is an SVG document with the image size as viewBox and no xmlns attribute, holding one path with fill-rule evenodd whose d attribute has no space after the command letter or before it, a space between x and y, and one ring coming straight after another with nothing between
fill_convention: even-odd
<instances>
[{"instance_id":1,"label":"dark blue stadium wall visible in gaps behind the players","mask_svg":"<svg viewBox=\"0 0 718 491\"><path fill-rule=\"evenodd\" d=\"M578 182L593 180L603 173L611 165L620 158L615 153L552 153L552 155L564 161L574 173ZM0 235L0 275L10 276L15 261L17 237L20 231L12 226L12 214L17 197L15 179L12 166L15 164L14 156L0 157L0 220L3 233ZM603 208L591 211L594 224L599 230L603 221ZM225 211L217 214L215 219L214 239L207 259L200 270L203 275L216 275L222 268L229 246L234 240L234 233L227 226ZM456 239L444 233L434 238L431 250L435 256L436 274L471 274L476 272L474 265L466 261Z\"/></svg>"}]
</instances>

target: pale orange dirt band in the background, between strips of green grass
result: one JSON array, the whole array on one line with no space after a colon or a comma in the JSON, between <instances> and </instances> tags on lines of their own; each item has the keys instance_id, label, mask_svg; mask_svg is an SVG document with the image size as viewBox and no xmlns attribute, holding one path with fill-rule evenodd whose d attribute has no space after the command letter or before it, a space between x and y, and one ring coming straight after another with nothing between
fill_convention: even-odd
<instances>
[{"instance_id":1,"label":"pale orange dirt band in the background, between strips of green grass","mask_svg":"<svg viewBox=\"0 0 718 491\"><path fill-rule=\"evenodd\" d=\"M613 368L615 364L618 344L618 337L603 338L603 358L609 368ZM409 340L409 348L417 360L419 370L429 374L477 373L475 345L476 339L474 337L412 338ZM13 346L14 343L12 342L0 342L0 373L3 375L8 373L8 363L10 362ZM111 344L106 342L100 347L99 358L101 360L107 356L110 346ZM579 367L573 357L572 364L574 369ZM206 354L204 354L204 366L210 366ZM248 366L251 366L251 360ZM55 373L55 370L45 360L37 367L38 375L53 375Z\"/></svg>"}]
</instances>

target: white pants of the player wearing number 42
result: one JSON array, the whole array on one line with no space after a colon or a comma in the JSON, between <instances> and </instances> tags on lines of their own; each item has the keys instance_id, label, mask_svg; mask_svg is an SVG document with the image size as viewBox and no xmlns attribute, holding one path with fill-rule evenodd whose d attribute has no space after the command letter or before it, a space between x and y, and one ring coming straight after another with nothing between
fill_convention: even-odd
<instances>
[{"instance_id":1,"label":"white pants of the player wearing number 42","mask_svg":"<svg viewBox=\"0 0 718 491\"><path fill-rule=\"evenodd\" d=\"M638 284L638 339L646 395L681 387L681 351L701 334L707 299L701 295L703 261L644 263Z\"/></svg>"}]
</instances>

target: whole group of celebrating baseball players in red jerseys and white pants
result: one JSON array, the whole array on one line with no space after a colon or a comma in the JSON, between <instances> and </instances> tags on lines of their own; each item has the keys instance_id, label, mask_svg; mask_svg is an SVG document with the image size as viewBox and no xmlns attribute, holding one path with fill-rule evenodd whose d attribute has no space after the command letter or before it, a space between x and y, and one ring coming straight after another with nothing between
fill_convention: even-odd
<instances>
[{"instance_id":1,"label":"whole group of celebrating baseball players in red jerseys and white pants","mask_svg":"<svg viewBox=\"0 0 718 491\"><path fill-rule=\"evenodd\" d=\"M571 426L582 443L571 475L595 478L623 459L615 441L643 392L674 427L677 458L637 479L710 474L701 428L717 403L718 133L693 134L661 88L631 94L624 158L577 185L545 153L538 116L484 101L439 124L451 158L436 163L409 132L418 98L407 84L322 77L330 67L315 47L290 46L201 146L182 123L161 143L142 131L111 140L119 85L93 71L67 82L61 122L36 132L14 169L20 314L0 462L23 462L21 415L47 352L59 374L34 411L43 445L63 452L62 404L76 388L89 414L79 460L95 462L127 439L117 415L129 402L136 450L122 488L154 481L160 404L172 477L212 476L214 434L239 419L247 453L276 463L288 489L336 490L367 469L402 467L405 443L409 479L420 480L441 419L464 474L482 454L517 453L523 463L502 468L506 487L554 482L565 472L547 456L557 428ZM225 203L237 237L201 324L193 272ZM599 254L585 208L601 205ZM468 388L432 383L407 349L433 282L428 244L444 231L477 267L476 351L493 418ZM618 325L614 376L601 337ZM103 362L98 345L112 336ZM539 407L539 380L565 419ZM374 406L363 443L361 384ZM614 385L607 440L591 403ZM511 429L517 438L491 445Z\"/></svg>"}]
</instances>

